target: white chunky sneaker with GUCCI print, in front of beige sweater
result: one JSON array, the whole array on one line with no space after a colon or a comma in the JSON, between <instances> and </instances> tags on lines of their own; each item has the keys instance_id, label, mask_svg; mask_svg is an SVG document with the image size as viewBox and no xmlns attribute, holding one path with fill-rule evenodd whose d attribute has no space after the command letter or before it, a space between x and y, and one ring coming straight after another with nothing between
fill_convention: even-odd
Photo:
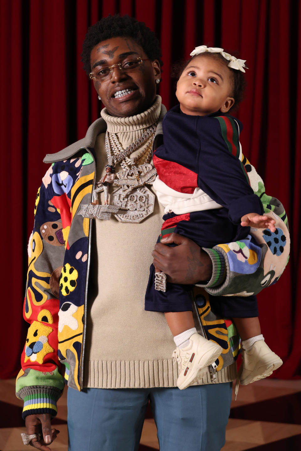
<instances>
[{"instance_id":1,"label":"white chunky sneaker with GUCCI print, in front of beige sweater","mask_svg":"<svg viewBox=\"0 0 301 451\"><path fill-rule=\"evenodd\" d=\"M222 353L222 347L206 340L199 334L193 334L189 345L173 351L172 357L178 362L179 377L176 385L183 390L207 373L207 367Z\"/></svg>"}]
</instances>

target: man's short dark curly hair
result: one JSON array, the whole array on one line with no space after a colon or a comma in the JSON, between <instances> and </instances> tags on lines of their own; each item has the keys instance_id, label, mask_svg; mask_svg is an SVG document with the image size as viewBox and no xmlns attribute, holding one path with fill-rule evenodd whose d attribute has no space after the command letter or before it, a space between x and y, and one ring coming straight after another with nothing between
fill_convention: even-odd
<instances>
[{"instance_id":1,"label":"man's short dark curly hair","mask_svg":"<svg viewBox=\"0 0 301 451\"><path fill-rule=\"evenodd\" d=\"M81 54L83 69L88 75L91 72L90 55L93 47L99 42L111 39L111 37L131 37L140 47L143 48L148 58L158 60L160 66L162 51L160 43L155 35L144 22L139 22L128 15L120 16L115 14L103 17L99 22L88 28L88 32L83 41L83 51Z\"/></svg>"}]
</instances>

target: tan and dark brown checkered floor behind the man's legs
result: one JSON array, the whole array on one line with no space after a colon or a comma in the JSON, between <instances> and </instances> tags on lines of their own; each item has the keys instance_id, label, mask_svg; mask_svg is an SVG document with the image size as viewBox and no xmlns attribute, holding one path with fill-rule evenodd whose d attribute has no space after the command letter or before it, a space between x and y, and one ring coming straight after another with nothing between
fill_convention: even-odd
<instances>
[{"instance_id":1,"label":"tan and dark brown checkered floor behind the man's legs","mask_svg":"<svg viewBox=\"0 0 301 451\"><path fill-rule=\"evenodd\" d=\"M66 394L67 391L59 400L59 413L54 423L60 429L60 435L51 444L52 451L68 450ZM25 432L21 405L14 395L14 380L0 381L0 451L26 449L20 436ZM159 449L156 426L150 414L147 416L139 451ZM226 444L222 451L243 450L301 450L300 380L265 379L240 387L238 400L232 400Z\"/></svg>"}]
</instances>

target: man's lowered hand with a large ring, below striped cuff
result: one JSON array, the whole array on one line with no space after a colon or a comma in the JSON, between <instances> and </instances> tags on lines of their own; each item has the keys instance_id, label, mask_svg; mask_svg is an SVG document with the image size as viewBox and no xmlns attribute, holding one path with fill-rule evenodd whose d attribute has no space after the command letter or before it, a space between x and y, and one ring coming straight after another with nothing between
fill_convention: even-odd
<instances>
[{"instance_id":1,"label":"man's lowered hand with a large ring, below striped cuff","mask_svg":"<svg viewBox=\"0 0 301 451\"><path fill-rule=\"evenodd\" d=\"M50 445L60 431L51 429L50 419L50 414L28 415L25 418L26 433L29 435L41 433L40 439L37 437L30 441L30 446L41 451L51 451L51 448L46 445Z\"/></svg>"}]
</instances>

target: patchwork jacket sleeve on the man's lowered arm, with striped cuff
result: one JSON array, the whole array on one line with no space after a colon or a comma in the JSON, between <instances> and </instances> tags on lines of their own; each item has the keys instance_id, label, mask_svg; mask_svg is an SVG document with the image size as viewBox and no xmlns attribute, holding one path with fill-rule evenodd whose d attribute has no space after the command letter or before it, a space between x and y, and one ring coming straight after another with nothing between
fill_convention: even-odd
<instances>
[{"instance_id":1,"label":"patchwork jacket sleeve on the man's lowered arm, with striped cuff","mask_svg":"<svg viewBox=\"0 0 301 451\"><path fill-rule=\"evenodd\" d=\"M60 209L53 199L51 166L37 192L35 220L28 243L28 275L23 307L30 327L21 356L17 396L24 400L23 418L32 413L56 414L64 388L58 348L58 278L63 267L65 240ZM67 201L67 198L65 198ZM68 201L67 201L68 202ZM51 387L51 389L50 389Z\"/></svg>"}]
</instances>

